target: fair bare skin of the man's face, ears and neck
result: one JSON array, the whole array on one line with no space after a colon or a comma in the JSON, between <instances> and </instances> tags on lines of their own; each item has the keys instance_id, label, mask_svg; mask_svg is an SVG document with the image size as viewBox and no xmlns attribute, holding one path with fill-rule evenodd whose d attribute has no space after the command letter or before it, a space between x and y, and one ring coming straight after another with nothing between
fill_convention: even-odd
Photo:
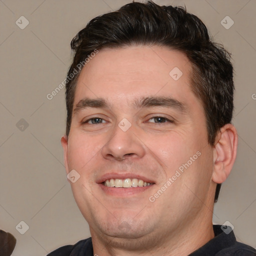
<instances>
[{"instance_id":1,"label":"fair bare skin of the man's face, ears and neck","mask_svg":"<svg viewBox=\"0 0 256 256\"><path fill-rule=\"evenodd\" d=\"M174 67L182 71L177 80L169 75ZM188 255L214 237L216 182L223 182L231 170L237 135L233 125L226 124L215 146L208 144L205 115L190 89L190 72L183 53L140 45L101 49L82 69L73 110L85 97L103 98L110 106L76 108L68 139L63 136L61 143L66 172L75 169L80 175L70 184L89 224L94 253ZM178 100L183 111L132 104L137 98L156 96ZM99 123L87 121L93 117L100 118ZM127 131L118 126L123 118L131 124ZM198 151L197 159L151 202L149 197ZM153 184L140 190L108 189L99 183L105 174L140 175Z\"/></svg>"}]
</instances>

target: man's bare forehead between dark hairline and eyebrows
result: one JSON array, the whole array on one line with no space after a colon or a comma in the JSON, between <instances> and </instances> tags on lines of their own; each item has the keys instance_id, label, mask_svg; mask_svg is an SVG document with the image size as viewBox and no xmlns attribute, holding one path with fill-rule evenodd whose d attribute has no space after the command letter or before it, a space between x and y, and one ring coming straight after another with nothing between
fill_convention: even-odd
<instances>
[{"instance_id":1,"label":"man's bare forehead between dark hairline and eyebrows","mask_svg":"<svg viewBox=\"0 0 256 256\"><path fill-rule=\"evenodd\" d=\"M167 47L104 48L81 70L73 105L85 96L119 103L152 95L184 101L193 97L190 72L191 64L186 55Z\"/></svg>"}]
</instances>

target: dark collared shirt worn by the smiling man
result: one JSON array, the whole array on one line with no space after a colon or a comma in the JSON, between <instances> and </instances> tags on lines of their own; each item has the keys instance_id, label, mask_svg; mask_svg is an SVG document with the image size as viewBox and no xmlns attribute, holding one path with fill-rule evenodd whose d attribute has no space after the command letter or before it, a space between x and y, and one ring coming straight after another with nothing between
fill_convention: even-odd
<instances>
[{"instance_id":1,"label":"dark collared shirt worn by the smiling man","mask_svg":"<svg viewBox=\"0 0 256 256\"><path fill-rule=\"evenodd\" d=\"M254 248L236 241L233 231L223 232L220 227L213 225L215 237L189 256L256 256ZM60 247L47 256L93 256L91 237L74 245Z\"/></svg>"}]
</instances>

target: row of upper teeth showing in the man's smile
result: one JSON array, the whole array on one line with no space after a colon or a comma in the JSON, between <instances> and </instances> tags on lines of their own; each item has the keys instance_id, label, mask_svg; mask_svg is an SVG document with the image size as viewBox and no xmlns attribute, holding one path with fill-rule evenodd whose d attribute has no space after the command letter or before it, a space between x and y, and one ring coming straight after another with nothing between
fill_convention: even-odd
<instances>
[{"instance_id":1,"label":"row of upper teeth showing in the man's smile","mask_svg":"<svg viewBox=\"0 0 256 256\"><path fill-rule=\"evenodd\" d=\"M104 185L109 187L136 187L136 186L149 186L151 183L137 178L110 178L105 180Z\"/></svg>"}]
</instances>

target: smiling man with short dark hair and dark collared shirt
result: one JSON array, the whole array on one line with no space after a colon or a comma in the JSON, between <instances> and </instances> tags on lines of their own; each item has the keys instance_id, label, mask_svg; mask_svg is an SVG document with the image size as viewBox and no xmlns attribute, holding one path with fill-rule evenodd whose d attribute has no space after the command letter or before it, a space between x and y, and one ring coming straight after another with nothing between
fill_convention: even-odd
<instances>
[{"instance_id":1,"label":"smiling man with short dark hair and dark collared shirt","mask_svg":"<svg viewBox=\"0 0 256 256\"><path fill-rule=\"evenodd\" d=\"M132 2L71 47L61 143L91 238L48 255L256 255L212 225L237 133L229 55L202 21Z\"/></svg>"}]
</instances>

